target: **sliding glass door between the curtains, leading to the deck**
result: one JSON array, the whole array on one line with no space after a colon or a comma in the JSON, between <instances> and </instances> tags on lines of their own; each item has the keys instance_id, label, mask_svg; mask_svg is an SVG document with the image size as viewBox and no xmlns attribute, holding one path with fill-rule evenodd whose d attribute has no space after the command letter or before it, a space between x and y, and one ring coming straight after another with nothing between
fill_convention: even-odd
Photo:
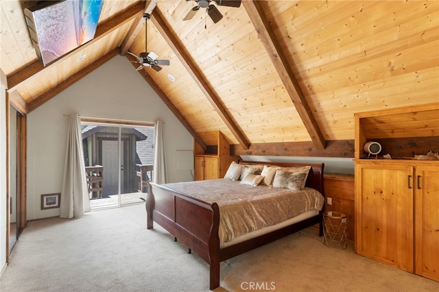
<instances>
[{"instance_id":1,"label":"sliding glass door between the curtains, leading to the deck","mask_svg":"<svg viewBox=\"0 0 439 292\"><path fill-rule=\"evenodd\" d=\"M90 206L145 202L154 171L154 127L82 123Z\"/></svg>"}]
</instances>

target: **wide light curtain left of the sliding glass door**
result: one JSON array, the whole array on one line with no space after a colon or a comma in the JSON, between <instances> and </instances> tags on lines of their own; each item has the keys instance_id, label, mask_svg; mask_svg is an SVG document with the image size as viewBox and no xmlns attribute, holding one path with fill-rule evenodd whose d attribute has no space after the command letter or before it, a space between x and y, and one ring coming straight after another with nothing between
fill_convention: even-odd
<instances>
[{"instance_id":1,"label":"wide light curtain left of the sliding glass door","mask_svg":"<svg viewBox=\"0 0 439 292\"><path fill-rule=\"evenodd\" d=\"M84 151L82 151L81 121L72 114L67 132L67 149L64 160L64 175L60 199L61 218L80 218L90 210L85 173Z\"/></svg>"}]
</instances>

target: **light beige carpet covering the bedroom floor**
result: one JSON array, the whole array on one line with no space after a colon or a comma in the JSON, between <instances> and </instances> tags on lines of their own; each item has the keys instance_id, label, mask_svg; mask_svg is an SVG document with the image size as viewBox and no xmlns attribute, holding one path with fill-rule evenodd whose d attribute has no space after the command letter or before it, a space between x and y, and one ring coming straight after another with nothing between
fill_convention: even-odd
<instances>
[{"instance_id":1,"label":"light beige carpet covering the bedroom floor","mask_svg":"<svg viewBox=\"0 0 439 292\"><path fill-rule=\"evenodd\" d=\"M144 204L82 219L31 221L0 291L209 291L209 268L162 228ZM215 291L439 291L439 282L335 250L308 228L221 264Z\"/></svg>"}]
</instances>

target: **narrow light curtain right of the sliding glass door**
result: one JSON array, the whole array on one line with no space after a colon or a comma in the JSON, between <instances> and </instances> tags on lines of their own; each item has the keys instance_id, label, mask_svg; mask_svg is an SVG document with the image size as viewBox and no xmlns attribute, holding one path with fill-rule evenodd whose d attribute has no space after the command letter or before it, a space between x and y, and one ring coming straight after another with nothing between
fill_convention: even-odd
<instances>
[{"instance_id":1,"label":"narrow light curtain right of the sliding glass door","mask_svg":"<svg viewBox=\"0 0 439 292\"><path fill-rule=\"evenodd\" d=\"M152 182L166 184L165 143L163 142L163 122L157 121L154 125L154 171Z\"/></svg>"}]
</instances>

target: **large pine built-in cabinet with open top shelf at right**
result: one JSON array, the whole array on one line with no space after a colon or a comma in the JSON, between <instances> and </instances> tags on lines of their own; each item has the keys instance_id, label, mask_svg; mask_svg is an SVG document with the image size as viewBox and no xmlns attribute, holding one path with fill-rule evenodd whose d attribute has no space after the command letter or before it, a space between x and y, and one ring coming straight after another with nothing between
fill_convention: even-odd
<instances>
[{"instance_id":1,"label":"large pine built-in cabinet with open top shelf at right","mask_svg":"<svg viewBox=\"0 0 439 292\"><path fill-rule=\"evenodd\" d=\"M438 152L438 117L439 104L355 114L354 160L357 254L436 281L439 160L411 156ZM366 158L368 141L392 159Z\"/></svg>"}]
</instances>

